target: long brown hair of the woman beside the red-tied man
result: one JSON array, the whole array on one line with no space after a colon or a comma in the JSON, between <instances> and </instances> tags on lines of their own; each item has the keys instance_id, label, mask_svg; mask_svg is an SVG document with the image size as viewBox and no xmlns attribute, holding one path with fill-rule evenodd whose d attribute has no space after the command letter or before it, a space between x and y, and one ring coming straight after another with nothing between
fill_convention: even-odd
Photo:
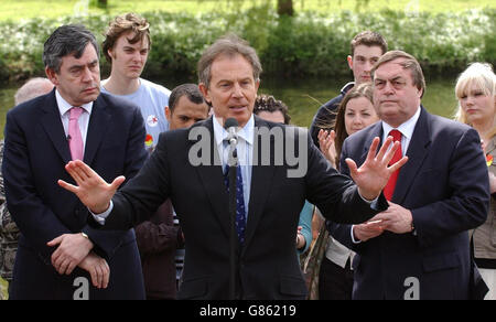
<instances>
[{"instance_id":1,"label":"long brown hair of the woman beside the red-tied man","mask_svg":"<svg viewBox=\"0 0 496 322\"><path fill-rule=\"evenodd\" d=\"M334 140L334 146L336 148L336 162L335 164L339 167L339 158L341 158L341 151L343 149L344 140L349 136L348 132L346 132L346 125L345 125L345 114L346 114L346 105L348 105L348 101L354 98L365 97L374 105L373 99L374 90L370 83L363 83L358 86L353 87L348 93L346 93L343 100L339 103L339 107L337 108L337 116L334 121L334 125L332 127L334 128L334 131L336 132L336 138Z\"/></svg>"}]
</instances>

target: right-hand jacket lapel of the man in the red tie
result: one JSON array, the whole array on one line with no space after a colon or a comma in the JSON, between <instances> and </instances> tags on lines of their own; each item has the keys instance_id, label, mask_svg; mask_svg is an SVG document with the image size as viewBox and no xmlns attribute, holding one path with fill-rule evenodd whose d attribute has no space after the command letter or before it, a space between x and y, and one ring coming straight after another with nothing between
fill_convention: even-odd
<instances>
[{"instance_id":1,"label":"right-hand jacket lapel of the man in the red tie","mask_svg":"<svg viewBox=\"0 0 496 322\"><path fill-rule=\"evenodd\" d=\"M408 195L408 191L429 153L431 142L429 114L423 107L421 109L421 115L408 147L408 162L400 169L395 194L391 200L396 204L402 204L405 202L405 197Z\"/></svg>"}]
</instances>

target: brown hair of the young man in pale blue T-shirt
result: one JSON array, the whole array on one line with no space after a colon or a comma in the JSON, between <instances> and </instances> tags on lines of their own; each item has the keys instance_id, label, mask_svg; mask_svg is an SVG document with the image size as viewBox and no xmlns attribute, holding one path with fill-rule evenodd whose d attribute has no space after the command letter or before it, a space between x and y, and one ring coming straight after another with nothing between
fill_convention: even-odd
<instances>
[{"instance_id":1,"label":"brown hair of the young man in pale blue T-shirt","mask_svg":"<svg viewBox=\"0 0 496 322\"><path fill-rule=\"evenodd\" d=\"M114 49L117 40L125 33L132 32L134 34L132 39L128 39L131 44L136 44L137 42L142 41L143 37L147 37L148 47L150 49L150 23L148 23L147 19L140 17L139 14L127 13L125 15L118 15L108 25L109 26L104 34L105 41L101 44L101 49L107 62L110 64L112 63L112 58L108 54L108 51Z\"/></svg>"}]
</instances>

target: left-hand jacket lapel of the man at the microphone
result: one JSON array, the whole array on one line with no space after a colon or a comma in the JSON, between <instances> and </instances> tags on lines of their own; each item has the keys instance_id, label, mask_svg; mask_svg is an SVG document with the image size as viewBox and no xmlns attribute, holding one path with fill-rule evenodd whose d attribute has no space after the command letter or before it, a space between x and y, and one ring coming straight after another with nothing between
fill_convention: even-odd
<instances>
[{"instance_id":1,"label":"left-hand jacket lapel of the man at the microphone","mask_svg":"<svg viewBox=\"0 0 496 322\"><path fill-rule=\"evenodd\" d=\"M200 181L202 182L205 194L208 196L212 208L214 211L214 215L220 224L226 238L229 238L229 196L227 194L226 185L224 184L224 173L222 165L219 165L219 163L217 162L214 162L214 160L216 159L218 161L218 150L215 143L213 118L209 118L208 120L203 122L203 125L198 126L205 127L211 135L208 140L211 144L209 151L212 153L211 164L213 165L198 165L194 168L200 176ZM196 127L197 126L193 126L190 131ZM190 151L190 148L193 144L197 143L202 138L198 138L198 140L190 140L187 150Z\"/></svg>"}]
</instances>

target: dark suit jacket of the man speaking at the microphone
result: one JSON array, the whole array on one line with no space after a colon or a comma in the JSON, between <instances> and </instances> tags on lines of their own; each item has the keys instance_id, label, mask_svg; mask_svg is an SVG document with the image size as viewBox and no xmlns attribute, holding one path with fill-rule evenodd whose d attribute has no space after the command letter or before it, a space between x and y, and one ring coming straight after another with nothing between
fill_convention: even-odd
<instances>
[{"instance_id":1,"label":"dark suit jacket of the man speaking at the microphone","mask_svg":"<svg viewBox=\"0 0 496 322\"><path fill-rule=\"evenodd\" d=\"M285 148L298 141L295 133L301 131L257 117L255 126L279 129L289 142ZM194 135L198 130L203 137ZM302 161L308 162L304 176L288 178L287 162L252 167L246 242L242 248L238 246L236 258L238 298L305 298L306 287L294 251L305 198L336 222L359 223L376 213L358 195L353 182L325 161L306 131L299 138L305 143L301 151L295 148L296 155L300 152ZM276 141L274 137L271 139L269 152L273 161ZM261 136L256 136L254 152L258 151L258 155L261 155L260 140ZM114 210L106 222L106 228L130 227L148 218L171 197L186 243L180 299L228 298L229 214L223 170L220 165L194 167L190 161L190 152L196 155L201 142L206 144L203 157L209 162L218 159L213 141L212 118L190 129L162 133L140 173L112 198ZM384 210L384 203L381 206Z\"/></svg>"}]
</instances>

